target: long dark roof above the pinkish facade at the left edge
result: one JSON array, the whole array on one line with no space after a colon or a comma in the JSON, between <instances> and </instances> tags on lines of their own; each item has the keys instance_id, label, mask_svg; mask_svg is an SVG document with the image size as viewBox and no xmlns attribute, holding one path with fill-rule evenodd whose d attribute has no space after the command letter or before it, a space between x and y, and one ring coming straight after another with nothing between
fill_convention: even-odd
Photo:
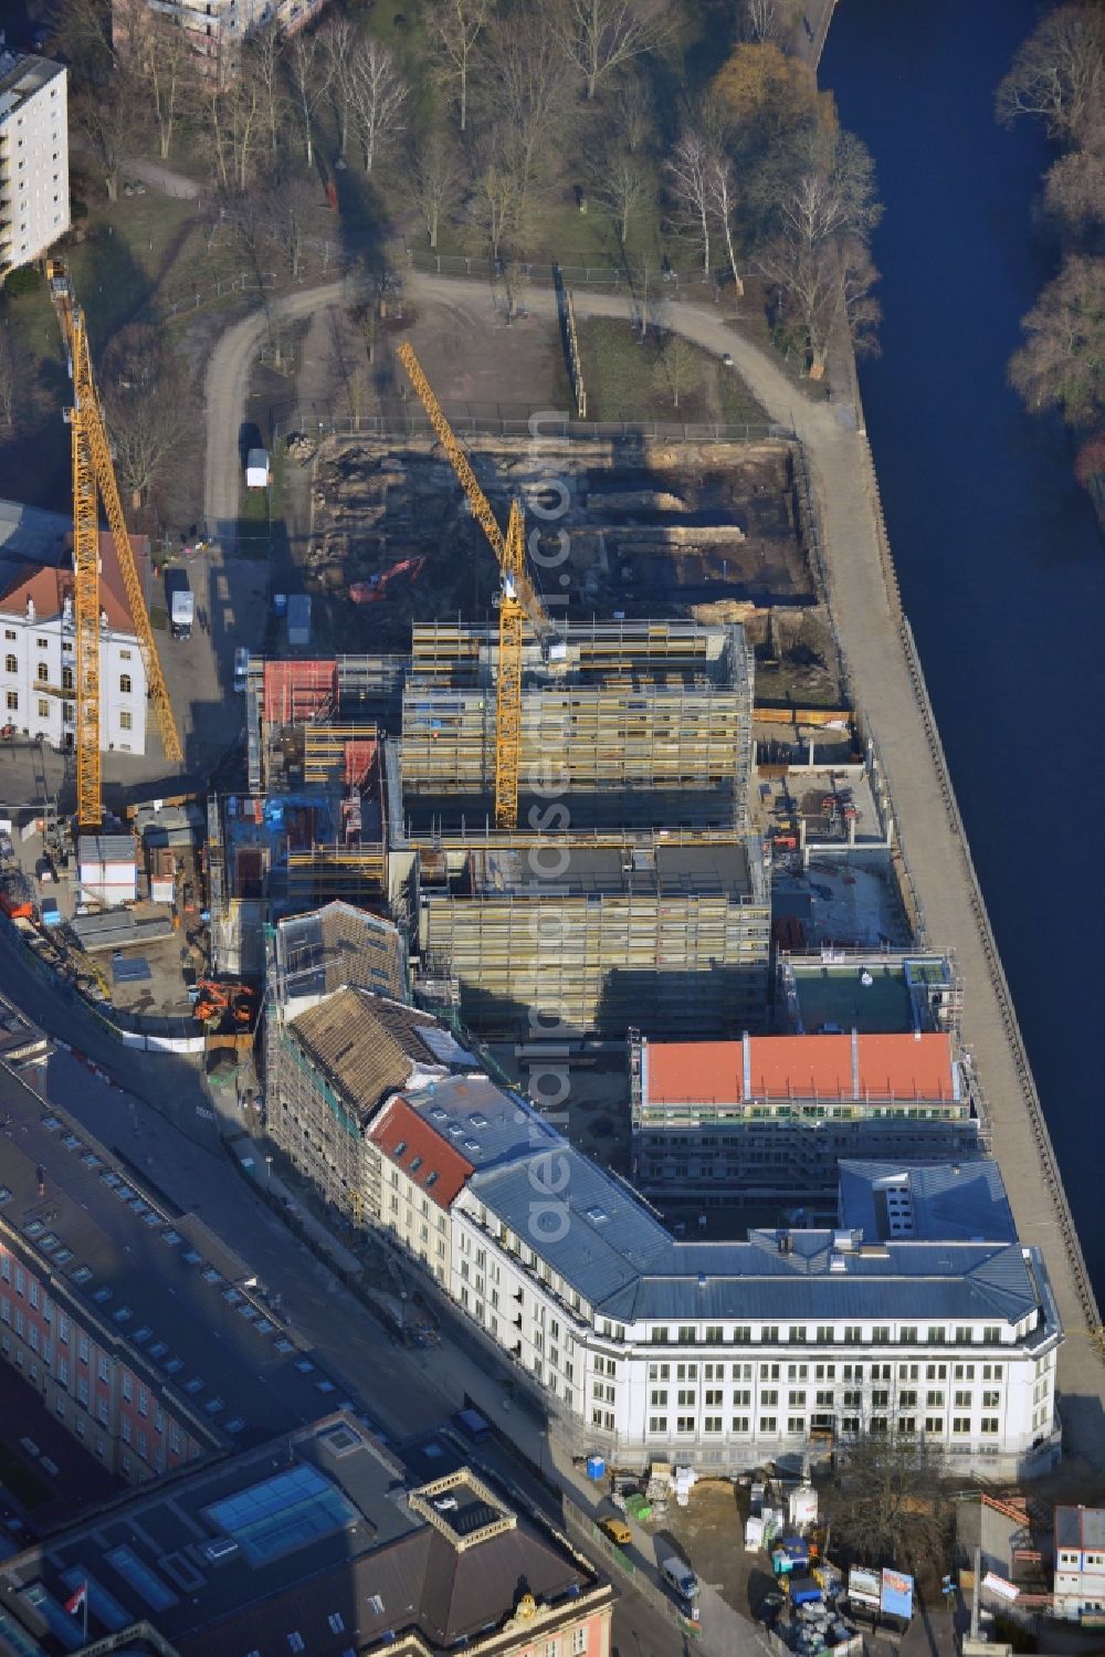
<instances>
[{"instance_id":1,"label":"long dark roof above the pinkish facade at the left edge","mask_svg":"<svg viewBox=\"0 0 1105 1657\"><path fill-rule=\"evenodd\" d=\"M3 1246L33 1259L51 1297L98 1327L156 1394L227 1447L288 1432L341 1400L245 1287L245 1261L2 1065L0 1114Z\"/></svg>"}]
</instances>

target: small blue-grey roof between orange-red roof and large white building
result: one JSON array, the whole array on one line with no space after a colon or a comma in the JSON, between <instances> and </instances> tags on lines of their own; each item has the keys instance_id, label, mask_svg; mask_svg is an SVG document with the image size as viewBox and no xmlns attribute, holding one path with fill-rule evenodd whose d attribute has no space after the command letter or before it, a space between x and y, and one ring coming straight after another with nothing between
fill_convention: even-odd
<instances>
[{"instance_id":1,"label":"small blue-grey roof between orange-red roof and large white building","mask_svg":"<svg viewBox=\"0 0 1105 1657\"><path fill-rule=\"evenodd\" d=\"M868 1241L963 1239L1016 1243L1017 1229L996 1162L840 1163L840 1225Z\"/></svg>"}]
</instances>

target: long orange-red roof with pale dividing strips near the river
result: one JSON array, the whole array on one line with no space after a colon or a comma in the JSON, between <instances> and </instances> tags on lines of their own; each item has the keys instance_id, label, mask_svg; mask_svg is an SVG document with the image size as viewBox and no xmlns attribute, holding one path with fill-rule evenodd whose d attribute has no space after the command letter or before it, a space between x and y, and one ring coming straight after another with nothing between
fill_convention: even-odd
<instances>
[{"instance_id":1,"label":"long orange-red roof with pale dividing strips near the river","mask_svg":"<svg viewBox=\"0 0 1105 1657\"><path fill-rule=\"evenodd\" d=\"M855 1042L855 1052L853 1052ZM746 1057L749 1087L746 1092ZM648 1042L649 1105L754 1099L954 1099L951 1036L749 1036Z\"/></svg>"}]
</instances>

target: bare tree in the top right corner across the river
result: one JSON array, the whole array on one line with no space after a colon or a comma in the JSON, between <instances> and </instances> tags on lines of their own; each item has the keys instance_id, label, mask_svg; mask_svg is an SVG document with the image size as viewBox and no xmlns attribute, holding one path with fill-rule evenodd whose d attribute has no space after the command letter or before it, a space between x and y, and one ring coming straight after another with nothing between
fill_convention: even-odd
<instances>
[{"instance_id":1,"label":"bare tree in the top right corner across the river","mask_svg":"<svg viewBox=\"0 0 1105 1657\"><path fill-rule=\"evenodd\" d=\"M1050 138L1078 139L1105 104L1105 13L1097 0L1047 12L997 88L1002 123L1037 116Z\"/></svg>"}]
</instances>

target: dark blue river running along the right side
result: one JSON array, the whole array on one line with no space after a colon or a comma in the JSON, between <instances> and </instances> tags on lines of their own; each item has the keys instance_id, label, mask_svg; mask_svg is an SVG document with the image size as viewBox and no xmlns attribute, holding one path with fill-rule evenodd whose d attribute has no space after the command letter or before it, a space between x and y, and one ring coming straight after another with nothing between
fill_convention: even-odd
<instances>
[{"instance_id":1,"label":"dark blue river running along the right side","mask_svg":"<svg viewBox=\"0 0 1105 1657\"><path fill-rule=\"evenodd\" d=\"M901 595L1105 1299L1105 545L1062 432L1004 378L1055 262L1034 232L1044 136L992 118L1037 15L1035 0L840 0L820 81L886 202L883 356L860 383Z\"/></svg>"}]
</instances>

